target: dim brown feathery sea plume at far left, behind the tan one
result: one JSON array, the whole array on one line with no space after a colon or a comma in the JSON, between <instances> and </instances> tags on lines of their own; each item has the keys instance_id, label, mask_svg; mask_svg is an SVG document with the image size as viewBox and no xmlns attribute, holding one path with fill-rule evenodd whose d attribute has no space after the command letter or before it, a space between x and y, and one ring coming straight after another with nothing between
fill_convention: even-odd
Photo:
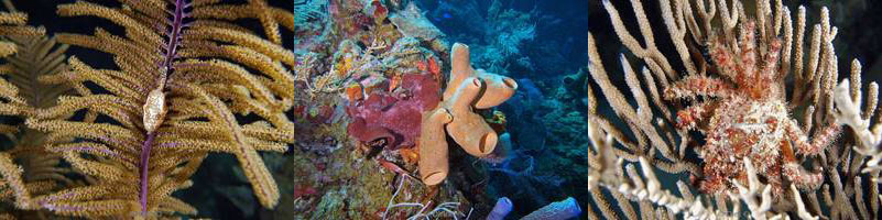
<instances>
[{"instance_id":1,"label":"dim brown feathery sea plume at far left, behind the tan one","mask_svg":"<svg viewBox=\"0 0 882 220\"><path fill-rule=\"evenodd\" d=\"M7 8L13 10L9 1L4 3L7 3ZM66 58L64 52L67 50L67 45L56 44L54 37L42 35L12 35L3 36L3 38L15 43L18 51L14 55L3 58L7 62L3 68L8 70L4 74L9 77L9 81L19 88L18 96L26 102L26 106L23 106L22 111L17 116L18 118L32 117L36 109L54 106L58 96L69 95L72 91L69 86L41 80L43 76L67 69L67 65L64 63ZM14 162L21 167L21 180L29 188L26 196L46 195L76 184L66 176L74 172L61 165L61 154L50 152L44 147L46 138L44 133L28 129L23 123L9 125L15 125L18 131L7 133L13 145L2 154L3 157L11 158L10 162ZM31 207L31 209L36 208L39 206ZM54 217L45 210L10 213L21 219Z\"/></svg>"}]
</instances>

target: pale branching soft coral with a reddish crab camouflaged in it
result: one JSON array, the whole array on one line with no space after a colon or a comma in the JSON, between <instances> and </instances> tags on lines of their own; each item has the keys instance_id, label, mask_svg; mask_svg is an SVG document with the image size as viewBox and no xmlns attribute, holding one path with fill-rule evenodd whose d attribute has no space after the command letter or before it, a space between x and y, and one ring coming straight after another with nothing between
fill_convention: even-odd
<instances>
[{"instance_id":1,"label":"pale branching soft coral with a reddish crab camouflaged in it","mask_svg":"<svg viewBox=\"0 0 882 220\"><path fill-rule=\"evenodd\" d=\"M639 35L611 1L602 4L632 52L620 62L635 101L611 82L589 34L589 70L609 103L599 107L589 89L589 218L879 218L879 86L870 84L861 109L857 59L850 82L837 86L838 29L826 8L806 26L806 9L792 13L782 0L662 0L675 48L666 56L643 2L631 1ZM672 194L660 170L689 183Z\"/></svg>"}]
</instances>

